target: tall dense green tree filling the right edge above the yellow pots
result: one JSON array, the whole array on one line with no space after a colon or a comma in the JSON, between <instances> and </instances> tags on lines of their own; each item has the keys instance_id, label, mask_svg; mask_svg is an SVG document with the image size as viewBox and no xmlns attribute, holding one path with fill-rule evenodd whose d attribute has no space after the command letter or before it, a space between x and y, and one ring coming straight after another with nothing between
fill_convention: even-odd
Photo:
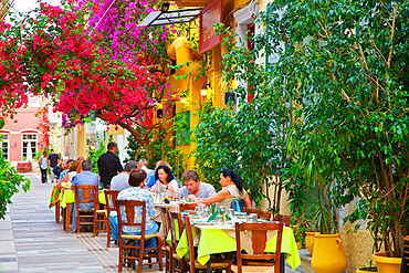
<instances>
[{"instance_id":1,"label":"tall dense green tree filling the right edge above the yellow pots","mask_svg":"<svg viewBox=\"0 0 409 273\"><path fill-rule=\"evenodd\" d=\"M408 18L408 1L280 0L261 14L256 42L259 57L276 60L266 63L271 85L285 83L298 106L286 188L318 182L335 208L357 198L347 220L367 220L376 250L392 256L409 217Z\"/></svg>"}]
</instances>

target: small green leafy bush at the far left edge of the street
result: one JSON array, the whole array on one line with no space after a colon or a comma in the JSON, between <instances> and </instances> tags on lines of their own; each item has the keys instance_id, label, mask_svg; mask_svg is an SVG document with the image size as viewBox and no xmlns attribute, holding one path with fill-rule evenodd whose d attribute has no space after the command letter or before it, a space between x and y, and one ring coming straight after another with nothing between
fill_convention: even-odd
<instances>
[{"instance_id":1,"label":"small green leafy bush at the far left edge of the street","mask_svg":"<svg viewBox=\"0 0 409 273\"><path fill-rule=\"evenodd\" d=\"M28 191L30 180L17 174L14 167L0 156L0 219L4 219L7 204L11 203L11 197L19 192L19 187Z\"/></svg>"}]
</instances>

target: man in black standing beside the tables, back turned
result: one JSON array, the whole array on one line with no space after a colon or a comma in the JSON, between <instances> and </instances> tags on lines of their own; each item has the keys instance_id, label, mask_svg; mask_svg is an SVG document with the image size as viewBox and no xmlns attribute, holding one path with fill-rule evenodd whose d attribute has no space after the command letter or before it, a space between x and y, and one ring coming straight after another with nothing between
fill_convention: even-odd
<instances>
[{"instance_id":1,"label":"man in black standing beside the tables, back turned","mask_svg":"<svg viewBox=\"0 0 409 273\"><path fill-rule=\"evenodd\" d=\"M118 145L116 143L108 143L106 147L108 151L98 158L97 166L101 177L101 182L104 185L104 189L111 185L111 179L122 172L124 168L120 165L118 153Z\"/></svg>"}]
</instances>

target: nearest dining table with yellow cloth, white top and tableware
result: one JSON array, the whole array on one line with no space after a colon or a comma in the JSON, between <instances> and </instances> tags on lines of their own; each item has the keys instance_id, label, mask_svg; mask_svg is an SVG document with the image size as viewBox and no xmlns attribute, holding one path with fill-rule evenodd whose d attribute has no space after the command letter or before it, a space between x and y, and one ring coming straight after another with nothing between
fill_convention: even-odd
<instances>
[{"instance_id":1,"label":"nearest dining table with yellow cloth, white top and tableware","mask_svg":"<svg viewBox=\"0 0 409 273\"><path fill-rule=\"evenodd\" d=\"M231 221L226 223L218 223L216 221L208 221L207 218L192 217L190 222L192 225L193 244L197 249L197 261L201 265L208 265L208 271L210 271L210 255L221 254L228 252L237 251L237 240L235 240L235 228L234 222L244 222L245 219L232 217ZM262 220L259 220L262 221ZM264 221L265 222L265 221ZM176 227L176 229L179 229ZM274 253L276 250L276 232L268 232L268 242L265 245L265 252ZM176 232L178 234L178 232ZM251 248L251 237L242 232L240 235L242 248L248 252L252 252ZM171 245L171 233L169 232L166 242ZM176 246L176 253L182 258L189 253L188 239L186 230L179 239L179 243ZM290 266L295 270L301 265L301 259L298 254L298 249L295 242L294 232L292 228L284 227L282 245L281 245L281 272L284 272L284 259L290 264Z\"/></svg>"}]
</instances>

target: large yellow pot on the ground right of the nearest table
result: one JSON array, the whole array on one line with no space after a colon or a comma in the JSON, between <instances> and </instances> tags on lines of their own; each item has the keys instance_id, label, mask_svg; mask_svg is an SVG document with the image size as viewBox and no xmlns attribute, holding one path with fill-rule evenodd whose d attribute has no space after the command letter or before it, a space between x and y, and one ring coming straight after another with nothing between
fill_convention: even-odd
<instances>
[{"instance_id":1,"label":"large yellow pot on the ground right of the nearest table","mask_svg":"<svg viewBox=\"0 0 409 273\"><path fill-rule=\"evenodd\" d=\"M340 273L346 269L340 234L315 234L311 265L317 273Z\"/></svg>"}]
</instances>

